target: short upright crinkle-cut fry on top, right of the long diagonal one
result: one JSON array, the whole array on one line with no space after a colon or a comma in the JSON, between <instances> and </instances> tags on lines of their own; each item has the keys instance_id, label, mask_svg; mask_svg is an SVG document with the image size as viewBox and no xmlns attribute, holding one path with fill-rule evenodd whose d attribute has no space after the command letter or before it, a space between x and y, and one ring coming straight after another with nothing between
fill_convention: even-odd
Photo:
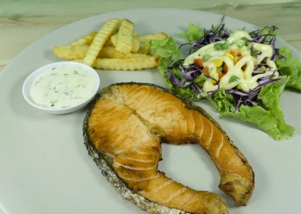
<instances>
[{"instance_id":1,"label":"short upright crinkle-cut fry on top, right of the long diagonal one","mask_svg":"<svg viewBox=\"0 0 301 214\"><path fill-rule=\"evenodd\" d=\"M116 51L121 54L128 54L133 46L134 24L127 19L123 19L120 23L117 33Z\"/></svg>"}]
</instances>

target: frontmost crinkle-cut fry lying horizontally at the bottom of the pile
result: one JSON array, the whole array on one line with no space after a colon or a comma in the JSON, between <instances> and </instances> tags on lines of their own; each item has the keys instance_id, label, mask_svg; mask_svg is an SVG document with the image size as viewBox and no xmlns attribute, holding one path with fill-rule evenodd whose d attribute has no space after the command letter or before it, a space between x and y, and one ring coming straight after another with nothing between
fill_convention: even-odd
<instances>
[{"instance_id":1,"label":"frontmost crinkle-cut fry lying horizontally at the bottom of the pile","mask_svg":"<svg viewBox=\"0 0 301 214\"><path fill-rule=\"evenodd\" d=\"M83 62L83 60L73 60L75 62ZM161 62L161 57L141 57L131 59L101 59L97 58L92 65L95 69L102 70L137 70L145 68L154 68Z\"/></svg>"}]
</instances>

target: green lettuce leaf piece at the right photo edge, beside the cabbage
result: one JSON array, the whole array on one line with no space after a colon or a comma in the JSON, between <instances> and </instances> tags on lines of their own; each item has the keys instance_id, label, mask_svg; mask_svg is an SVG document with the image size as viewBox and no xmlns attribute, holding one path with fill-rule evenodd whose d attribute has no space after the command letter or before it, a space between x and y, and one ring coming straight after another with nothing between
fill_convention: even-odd
<instances>
[{"instance_id":1,"label":"green lettuce leaf piece at the right photo edge, beside the cabbage","mask_svg":"<svg viewBox=\"0 0 301 214\"><path fill-rule=\"evenodd\" d=\"M290 76L286 86L301 90L301 62L296 58L293 59L292 50L286 47L280 48L278 53L286 58L279 59L277 56L275 60L277 68L284 75Z\"/></svg>"}]
</instances>

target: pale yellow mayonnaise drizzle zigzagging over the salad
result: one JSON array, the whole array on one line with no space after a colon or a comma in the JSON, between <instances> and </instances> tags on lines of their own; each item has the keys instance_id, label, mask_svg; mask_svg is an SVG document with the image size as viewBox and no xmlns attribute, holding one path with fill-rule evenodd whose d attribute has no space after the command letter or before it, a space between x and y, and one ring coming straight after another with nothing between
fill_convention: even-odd
<instances>
[{"instance_id":1,"label":"pale yellow mayonnaise drizzle zigzagging over the salad","mask_svg":"<svg viewBox=\"0 0 301 214\"><path fill-rule=\"evenodd\" d=\"M210 77L218 80L218 73L217 68L215 67L213 61L214 60L222 60L228 67L228 72L226 75L224 75L220 79L220 88L224 88L226 90L232 89L236 86L240 86L241 89L245 92L249 92L250 90L256 88L258 86L257 80L262 77L270 76L274 73L274 76L272 78L277 78L279 73L275 71L277 69L275 63L270 60L273 54L273 48L270 45L266 44L259 44L259 43L249 43L248 47L243 46L240 48L240 52L242 55L242 58L234 64L234 61L227 57L223 56L225 53L230 52L232 49L238 49L237 45L235 44L238 40L241 38L246 37L248 40L251 40L252 38L250 35L245 31L236 31L230 35L230 37L227 39L227 42L230 43L230 47L226 50L216 51L214 48L214 45L216 43L223 44L226 41L219 41L216 43L211 43L207 46L204 46L200 48L195 53L189 55L184 63L183 66L188 66L194 63L194 59L196 58L203 58L204 55L209 54L211 56L210 60L207 62L203 62L203 66L209 67L209 74ZM260 52L261 54L257 57L251 56L250 47L253 46L253 48L256 50L256 52ZM270 67L270 70L268 72L257 74L255 76L252 76L252 73L254 71L255 65L258 65L262 62L263 59L266 59L267 66ZM242 67L246 64L246 68L243 71ZM275 72L274 72L275 71ZM238 77L238 80L229 83L230 78L232 76ZM216 84L216 81L212 79L207 79L204 83L203 89L204 92L207 93L209 91L215 91L218 88L218 85Z\"/></svg>"}]
</instances>

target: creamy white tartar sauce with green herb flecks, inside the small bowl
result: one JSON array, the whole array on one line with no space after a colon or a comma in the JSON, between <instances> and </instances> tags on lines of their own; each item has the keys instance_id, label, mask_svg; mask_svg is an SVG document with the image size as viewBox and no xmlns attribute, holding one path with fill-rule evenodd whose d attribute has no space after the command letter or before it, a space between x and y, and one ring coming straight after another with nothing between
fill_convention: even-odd
<instances>
[{"instance_id":1,"label":"creamy white tartar sauce with green herb flecks, inside the small bowl","mask_svg":"<svg viewBox=\"0 0 301 214\"><path fill-rule=\"evenodd\" d=\"M95 76L85 68L61 66L38 75L29 89L29 96L42 107L66 108L87 99L95 86Z\"/></svg>"}]
</instances>

